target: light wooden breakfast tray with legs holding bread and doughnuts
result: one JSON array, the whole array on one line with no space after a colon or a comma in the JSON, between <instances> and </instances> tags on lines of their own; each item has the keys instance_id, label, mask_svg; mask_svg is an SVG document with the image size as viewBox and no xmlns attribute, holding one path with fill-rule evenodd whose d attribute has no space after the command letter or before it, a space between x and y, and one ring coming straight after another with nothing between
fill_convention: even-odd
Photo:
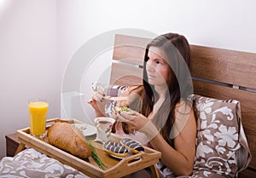
<instances>
[{"instance_id":1,"label":"light wooden breakfast tray with legs holding bread and doughnuts","mask_svg":"<svg viewBox=\"0 0 256 178\"><path fill-rule=\"evenodd\" d=\"M76 119L62 120L59 118L52 118L47 120L48 124L55 122L81 123ZM47 129L48 128L49 125L47 126ZM55 158L62 164L70 165L74 169L78 169L80 172L84 173L84 175L88 175L90 177L122 177L147 167L151 169L154 177L159 177L154 164L158 163L161 154L160 152L157 152L146 146L144 147L144 152L140 152L119 160L110 157L107 152L104 152L102 150L102 144L96 143L93 139L90 139L92 145L96 149L96 154L99 158L101 158L102 163L107 166L107 169L103 170L97 166L96 162L91 157L86 160L77 158L68 152L62 151L61 149L50 145L48 143L47 136L45 136L44 140L33 137L30 135L29 128L17 130L16 135L20 141L20 146L15 153L23 150L25 146L30 146L38 152L42 152L51 158Z\"/></svg>"}]
</instances>

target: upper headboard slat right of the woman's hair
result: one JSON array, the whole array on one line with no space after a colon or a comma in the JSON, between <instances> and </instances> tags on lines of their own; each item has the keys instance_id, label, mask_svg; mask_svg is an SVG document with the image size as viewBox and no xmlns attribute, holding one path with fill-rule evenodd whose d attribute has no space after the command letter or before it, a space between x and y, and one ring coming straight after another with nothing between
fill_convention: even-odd
<instances>
[{"instance_id":1,"label":"upper headboard slat right of the woman's hair","mask_svg":"<svg viewBox=\"0 0 256 178\"><path fill-rule=\"evenodd\" d=\"M256 54L190 45L193 77L256 89Z\"/></svg>"}]
</instances>

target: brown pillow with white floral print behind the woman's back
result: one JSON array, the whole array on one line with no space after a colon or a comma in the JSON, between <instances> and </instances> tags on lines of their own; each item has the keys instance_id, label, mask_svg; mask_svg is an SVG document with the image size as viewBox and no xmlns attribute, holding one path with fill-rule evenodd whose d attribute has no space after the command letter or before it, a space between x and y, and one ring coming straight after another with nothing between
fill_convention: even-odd
<instances>
[{"instance_id":1,"label":"brown pillow with white floral print behind the woman's back","mask_svg":"<svg viewBox=\"0 0 256 178\"><path fill-rule=\"evenodd\" d=\"M239 101L201 95L193 95L193 100L197 137L192 177L236 177L251 158L241 125ZM243 160L238 160L241 153Z\"/></svg>"}]
</instances>

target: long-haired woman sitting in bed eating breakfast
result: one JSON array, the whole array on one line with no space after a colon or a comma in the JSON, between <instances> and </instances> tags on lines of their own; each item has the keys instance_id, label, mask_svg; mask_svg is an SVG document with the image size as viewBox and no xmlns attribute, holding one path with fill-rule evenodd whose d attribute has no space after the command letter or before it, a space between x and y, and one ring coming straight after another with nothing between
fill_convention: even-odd
<instances>
[{"instance_id":1,"label":"long-haired woman sitting in bed eating breakfast","mask_svg":"<svg viewBox=\"0 0 256 178\"><path fill-rule=\"evenodd\" d=\"M196 123L189 100L192 94L189 43L182 35L161 35L148 43L144 61L143 86L126 92L137 94L129 103L137 112L132 115L118 112L117 120L126 123L130 133L143 133L150 146L161 152L157 164L161 176L191 175ZM102 101L102 94L97 93L92 99L90 104L96 114L102 114L96 106L96 100Z\"/></svg>"}]
</instances>

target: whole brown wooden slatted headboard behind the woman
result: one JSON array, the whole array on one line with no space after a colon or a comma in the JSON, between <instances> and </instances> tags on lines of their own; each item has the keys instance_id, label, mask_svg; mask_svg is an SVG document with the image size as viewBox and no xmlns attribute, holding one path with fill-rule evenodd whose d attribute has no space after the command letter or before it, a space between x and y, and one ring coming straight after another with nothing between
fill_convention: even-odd
<instances>
[{"instance_id":1,"label":"whole brown wooden slatted headboard behind the woman","mask_svg":"<svg viewBox=\"0 0 256 178\"><path fill-rule=\"evenodd\" d=\"M150 39L116 35L111 84L141 84ZM241 102L241 121L253 158L239 177L256 177L256 54L190 45L194 93Z\"/></svg>"}]
</instances>

